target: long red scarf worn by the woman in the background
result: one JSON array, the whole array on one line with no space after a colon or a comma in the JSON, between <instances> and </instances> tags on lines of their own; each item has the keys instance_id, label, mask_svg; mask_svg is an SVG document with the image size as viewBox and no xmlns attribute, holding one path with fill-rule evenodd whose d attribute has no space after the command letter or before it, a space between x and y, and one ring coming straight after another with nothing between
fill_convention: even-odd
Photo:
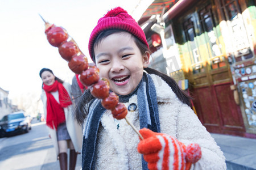
<instances>
[{"instance_id":1,"label":"long red scarf worn by the woman in the background","mask_svg":"<svg viewBox=\"0 0 256 170\"><path fill-rule=\"evenodd\" d=\"M65 113L63 108L68 107L72 104L71 99L68 95L67 90L57 80L55 80L55 82L51 86L43 84L43 89L44 91L46 91L47 97L46 125L49 126L49 128L51 129L53 129L53 126L55 127L55 129L57 129L57 126L60 123L65 122ZM57 103L57 101L51 94L51 92L55 91L59 92L60 103Z\"/></svg>"}]
</instances>

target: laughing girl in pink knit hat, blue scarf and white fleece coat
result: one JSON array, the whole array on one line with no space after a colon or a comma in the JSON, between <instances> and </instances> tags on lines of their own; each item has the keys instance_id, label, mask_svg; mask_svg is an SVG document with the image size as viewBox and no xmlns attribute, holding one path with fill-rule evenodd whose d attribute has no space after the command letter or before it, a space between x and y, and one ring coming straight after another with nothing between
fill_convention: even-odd
<instances>
[{"instance_id":1,"label":"laughing girl in pink knit hat, blue scarf and white fleece coat","mask_svg":"<svg viewBox=\"0 0 256 170\"><path fill-rule=\"evenodd\" d=\"M197 143L202 156L191 169L226 169L220 147L189 107L190 98L172 78L147 67L150 52L146 36L125 10L116 7L98 20L90 35L89 53L100 69L100 77L109 80L110 90L128 109L126 118L137 129L167 134L185 146ZM82 169L149 167L150 160L146 162L137 150L138 135L125 120L115 120L89 91L82 95L75 113L79 122L86 120ZM159 159L158 155L152 158Z\"/></svg>"}]
</instances>

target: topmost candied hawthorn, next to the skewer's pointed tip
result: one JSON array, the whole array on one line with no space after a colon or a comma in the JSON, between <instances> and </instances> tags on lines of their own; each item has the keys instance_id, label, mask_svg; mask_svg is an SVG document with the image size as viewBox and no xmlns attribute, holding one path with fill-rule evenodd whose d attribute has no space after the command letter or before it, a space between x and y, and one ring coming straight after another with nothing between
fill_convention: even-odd
<instances>
[{"instance_id":1,"label":"topmost candied hawthorn, next to the skewer's pointed tip","mask_svg":"<svg viewBox=\"0 0 256 170\"><path fill-rule=\"evenodd\" d=\"M46 30L46 36L49 44L56 47L68 39L67 31L62 27L55 27L55 25Z\"/></svg>"}]
</instances>

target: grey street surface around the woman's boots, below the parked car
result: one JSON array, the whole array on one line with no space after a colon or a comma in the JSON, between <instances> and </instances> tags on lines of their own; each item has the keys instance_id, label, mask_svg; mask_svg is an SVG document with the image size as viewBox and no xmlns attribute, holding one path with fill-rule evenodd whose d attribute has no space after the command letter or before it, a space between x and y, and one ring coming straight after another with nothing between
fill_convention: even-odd
<instances>
[{"instance_id":1,"label":"grey street surface around the woman's boots, below the parked car","mask_svg":"<svg viewBox=\"0 0 256 170\"><path fill-rule=\"evenodd\" d=\"M0 170L58 170L55 155L46 122L34 119L28 133L0 138ZM80 169L81 154L76 163L76 170Z\"/></svg>"}]
</instances>

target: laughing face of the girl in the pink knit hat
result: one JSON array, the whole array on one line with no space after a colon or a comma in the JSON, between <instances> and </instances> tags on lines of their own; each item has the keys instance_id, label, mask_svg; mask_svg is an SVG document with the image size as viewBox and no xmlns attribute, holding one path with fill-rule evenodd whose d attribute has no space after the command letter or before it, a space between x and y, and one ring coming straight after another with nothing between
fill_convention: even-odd
<instances>
[{"instance_id":1,"label":"laughing face of the girl in the pink knit hat","mask_svg":"<svg viewBox=\"0 0 256 170\"><path fill-rule=\"evenodd\" d=\"M107 78L110 89L128 95L142 79L143 68L149 65L149 52L142 56L130 33L119 32L105 37L94 46L100 77Z\"/></svg>"}]
</instances>

